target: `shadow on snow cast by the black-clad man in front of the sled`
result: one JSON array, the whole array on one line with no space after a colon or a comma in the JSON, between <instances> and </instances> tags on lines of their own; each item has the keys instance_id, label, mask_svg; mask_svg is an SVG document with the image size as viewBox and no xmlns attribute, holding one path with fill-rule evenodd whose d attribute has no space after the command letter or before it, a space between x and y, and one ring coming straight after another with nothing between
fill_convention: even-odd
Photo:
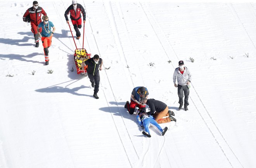
<instances>
[{"instance_id":1,"label":"shadow on snow cast by the black-clad man in front of the sled","mask_svg":"<svg viewBox=\"0 0 256 168\"><path fill-rule=\"evenodd\" d=\"M77 91L82 89L82 88L90 88L90 87L86 87L84 85L81 85L80 87L75 87L75 88L66 88L66 87L53 86L53 87L37 89L35 91L36 92L41 92L41 93L70 93L70 94L73 94L73 95L76 95L76 96L93 97L92 95L77 93Z\"/></svg>"}]
</instances>

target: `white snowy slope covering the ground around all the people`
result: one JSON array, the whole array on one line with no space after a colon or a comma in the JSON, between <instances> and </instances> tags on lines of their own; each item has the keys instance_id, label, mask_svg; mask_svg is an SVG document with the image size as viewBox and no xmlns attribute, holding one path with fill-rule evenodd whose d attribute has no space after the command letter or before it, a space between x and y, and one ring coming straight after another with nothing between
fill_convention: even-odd
<instances>
[{"instance_id":1,"label":"white snowy slope covering the ground around all the people","mask_svg":"<svg viewBox=\"0 0 256 168\"><path fill-rule=\"evenodd\" d=\"M1 168L256 167L256 3L79 0L84 46L110 67L96 100L88 77L71 71L71 3L38 1L56 27L45 66L22 21L32 2L0 2ZM179 60L193 74L189 111L177 110ZM175 112L165 136L145 137L124 109L137 86Z\"/></svg>"}]
</instances>

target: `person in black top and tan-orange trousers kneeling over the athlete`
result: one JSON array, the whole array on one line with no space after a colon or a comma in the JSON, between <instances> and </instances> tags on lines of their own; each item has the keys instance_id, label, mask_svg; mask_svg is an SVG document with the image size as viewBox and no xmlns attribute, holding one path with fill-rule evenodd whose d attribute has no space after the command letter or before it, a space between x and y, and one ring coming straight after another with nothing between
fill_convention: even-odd
<instances>
[{"instance_id":1,"label":"person in black top and tan-orange trousers kneeling over the athlete","mask_svg":"<svg viewBox=\"0 0 256 168\"><path fill-rule=\"evenodd\" d=\"M141 103L149 106L150 111L147 112L147 114L152 115L158 124L171 121L176 122L176 119L171 116L175 115L174 112L168 110L168 106L163 102L155 100L154 98L147 99L144 97L142 98Z\"/></svg>"}]
</instances>

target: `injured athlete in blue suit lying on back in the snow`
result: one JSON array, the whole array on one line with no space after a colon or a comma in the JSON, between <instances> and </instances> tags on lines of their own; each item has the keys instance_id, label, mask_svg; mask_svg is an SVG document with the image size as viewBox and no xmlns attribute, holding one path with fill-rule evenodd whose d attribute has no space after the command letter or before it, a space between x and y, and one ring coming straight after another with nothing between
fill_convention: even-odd
<instances>
[{"instance_id":1,"label":"injured athlete in blue suit lying on back in the snow","mask_svg":"<svg viewBox=\"0 0 256 168\"><path fill-rule=\"evenodd\" d=\"M159 124L157 124L156 120L152 119L153 118L152 115L148 115L147 113L145 113L144 110L138 109L136 114L137 114L138 124L140 125L140 127L145 128L145 131L142 131L142 134L144 134L145 136L151 137L150 131L149 131L150 125L156 127L160 131L162 136L164 136L165 132L168 130L167 127L164 127L164 129L162 129L162 127L159 126Z\"/></svg>"}]
</instances>

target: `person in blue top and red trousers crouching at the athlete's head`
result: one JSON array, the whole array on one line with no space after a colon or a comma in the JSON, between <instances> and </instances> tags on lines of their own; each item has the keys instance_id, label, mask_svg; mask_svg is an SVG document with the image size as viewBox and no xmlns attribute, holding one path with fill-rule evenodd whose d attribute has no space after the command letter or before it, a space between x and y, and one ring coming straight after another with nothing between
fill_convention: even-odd
<instances>
[{"instance_id":1,"label":"person in blue top and red trousers crouching at the athlete's head","mask_svg":"<svg viewBox=\"0 0 256 168\"><path fill-rule=\"evenodd\" d=\"M148 97L149 92L147 91L147 88L145 87L136 87L131 92L131 103L129 104L129 101L126 102L125 108L128 110L130 114L134 113L135 107L138 107L139 109L143 109L146 111L146 105L140 103L141 98Z\"/></svg>"}]
</instances>

